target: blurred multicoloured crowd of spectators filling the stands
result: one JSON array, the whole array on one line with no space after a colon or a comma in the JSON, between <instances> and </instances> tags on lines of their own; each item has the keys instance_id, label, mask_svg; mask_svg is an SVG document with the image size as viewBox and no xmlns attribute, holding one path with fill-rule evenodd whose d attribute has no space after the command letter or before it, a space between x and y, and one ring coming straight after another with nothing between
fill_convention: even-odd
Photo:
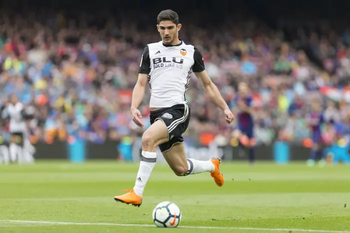
<instances>
[{"instance_id":1,"label":"blurred multicoloured crowd of spectators filling the stands","mask_svg":"<svg viewBox=\"0 0 350 233\"><path fill-rule=\"evenodd\" d=\"M1 12L0 105L15 93L35 107L35 119L28 123L32 142L74 136L102 143L139 136L149 125L149 90L140 106L144 129L137 128L129 115L131 92L143 47L160 40L155 25L143 23L147 17L122 15L116 20L106 14L96 23L83 11L74 19L55 11ZM195 15L182 17L180 38L201 51L207 73L233 112L237 84L248 83L258 144L309 137L305 119L312 100L323 104L327 119L350 123L346 101L330 101L320 91L348 84L350 33L299 29L288 43L283 31L259 20L227 17L225 23L205 27L198 25ZM311 62L300 44L323 66ZM218 134L229 139L236 123L227 125L223 114L213 110L194 75L190 84L188 142L207 144ZM6 125L7 119L1 118L5 138Z\"/></svg>"}]
</instances>

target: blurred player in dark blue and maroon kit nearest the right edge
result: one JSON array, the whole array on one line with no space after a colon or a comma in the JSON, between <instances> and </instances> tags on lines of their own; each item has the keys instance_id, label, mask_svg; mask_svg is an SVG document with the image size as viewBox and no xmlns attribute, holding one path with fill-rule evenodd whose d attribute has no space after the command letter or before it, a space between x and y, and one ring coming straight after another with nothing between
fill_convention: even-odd
<instances>
[{"instance_id":1,"label":"blurred player in dark blue and maroon kit nearest the right edge","mask_svg":"<svg viewBox=\"0 0 350 233\"><path fill-rule=\"evenodd\" d=\"M322 124L324 123L324 114L320 103L316 100L311 104L311 111L307 118L308 125L311 130L312 147L310 151L310 158L307 160L307 166L314 166L315 160L318 158L319 165L325 165L325 155L323 153L323 138L322 138Z\"/></svg>"}]
</instances>

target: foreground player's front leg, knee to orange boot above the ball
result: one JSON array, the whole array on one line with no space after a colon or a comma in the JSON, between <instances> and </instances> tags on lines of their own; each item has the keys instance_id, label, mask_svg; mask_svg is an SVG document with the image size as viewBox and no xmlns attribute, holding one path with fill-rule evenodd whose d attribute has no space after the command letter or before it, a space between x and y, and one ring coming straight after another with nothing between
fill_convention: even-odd
<instances>
[{"instance_id":1,"label":"foreground player's front leg, knee to orange boot above the ball","mask_svg":"<svg viewBox=\"0 0 350 233\"><path fill-rule=\"evenodd\" d=\"M163 121L157 120L142 135L141 161L138 168L135 186L126 194L115 196L114 200L133 206L140 206L142 203L142 194L148 178L155 166L156 152L155 148L168 141L168 132Z\"/></svg>"}]
</instances>

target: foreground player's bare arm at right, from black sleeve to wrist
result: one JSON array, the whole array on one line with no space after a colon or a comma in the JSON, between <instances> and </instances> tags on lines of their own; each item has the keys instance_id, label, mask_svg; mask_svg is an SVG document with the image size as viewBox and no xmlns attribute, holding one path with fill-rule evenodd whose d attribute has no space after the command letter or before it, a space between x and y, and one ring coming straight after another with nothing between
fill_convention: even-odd
<instances>
[{"instance_id":1,"label":"foreground player's bare arm at right, from black sleeve to wrist","mask_svg":"<svg viewBox=\"0 0 350 233\"><path fill-rule=\"evenodd\" d=\"M216 85L210 80L205 70L194 73L195 76L201 81L205 93L210 97L211 101L216 104L222 111L229 110L226 101L222 98L220 91Z\"/></svg>"}]
</instances>

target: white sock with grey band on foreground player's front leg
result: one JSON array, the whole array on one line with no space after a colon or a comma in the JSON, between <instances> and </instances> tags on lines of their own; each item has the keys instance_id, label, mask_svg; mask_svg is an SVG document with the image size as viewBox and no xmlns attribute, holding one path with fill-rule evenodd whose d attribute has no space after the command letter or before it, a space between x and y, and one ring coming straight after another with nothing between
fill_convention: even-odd
<instances>
[{"instance_id":1,"label":"white sock with grey band on foreground player's front leg","mask_svg":"<svg viewBox=\"0 0 350 233\"><path fill-rule=\"evenodd\" d=\"M133 191L137 196L142 196L144 187L148 181L150 173L152 172L157 158L157 153L142 151L141 153L141 162L138 168L135 187Z\"/></svg>"}]
</instances>

